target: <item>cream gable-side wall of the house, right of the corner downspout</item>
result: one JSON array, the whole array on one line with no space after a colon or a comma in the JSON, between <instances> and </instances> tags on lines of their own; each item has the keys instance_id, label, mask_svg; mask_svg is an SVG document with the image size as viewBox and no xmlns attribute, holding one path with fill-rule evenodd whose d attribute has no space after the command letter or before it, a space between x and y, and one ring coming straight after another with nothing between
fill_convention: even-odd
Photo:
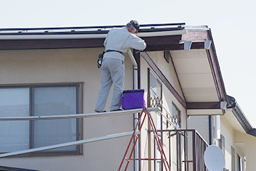
<instances>
[{"instance_id":1,"label":"cream gable-side wall of the house, right of the corner downspout","mask_svg":"<svg viewBox=\"0 0 256 171\"><path fill-rule=\"evenodd\" d=\"M176 91L182 96L182 91L181 88L179 87L179 82L177 80L177 76L175 73L175 70L173 68L173 64L170 62L168 64L166 60L163 58L163 52L147 52L149 54L149 57L154 61L154 63L159 67L163 75L166 76L168 81L175 87ZM150 68L150 66L147 64L147 61L144 60L143 57L141 57L141 89L145 89L145 96L147 97L147 90L148 90L148 80L147 80L147 68ZM168 112L171 114L172 112L172 103L177 105L177 108L180 110L181 114L181 128L185 129L186 128L186 120L187 120L187 115L186 115L186 110L182 105L177 101L175 96L170 93L168 88L166 87L165 84L162 82L162 98L163 98L163 107L168 110ZM166 111L163 110L163 113L166 114ZM151 113L152 117L154 118L154 123L156 124L156 114ZM166 129L166 119L163 119L163 130ZM170 129L170 127L168 128ZM151 135L149 137L149 134L147 133L148 130L148 122L146 121L142 127L142 134L141 134L141 157L142 158L149 158L149 157L154 157L154 149L152 148L154 145L154 137ZM149 138L151 142L151 156L149 156ZM168 135L166 133L163 133L163 148L166 153L166 156L169 156L168 153ZM171 147L171 150L176 150L175 144L173 144L173 147ZM173 152L172 156L176 157L176 153ZM173 158L174 159L174 158ZM176 161L174 161L176 162ZM149 167L151 167L151 170L154 170L154 161L151 161L151 166L149 166L149 161L142 161L142 170L149 170ZM173 163L173 162L172 162ZM172 169L174 170L174 168Z\"/></svg>"}]
</instances>

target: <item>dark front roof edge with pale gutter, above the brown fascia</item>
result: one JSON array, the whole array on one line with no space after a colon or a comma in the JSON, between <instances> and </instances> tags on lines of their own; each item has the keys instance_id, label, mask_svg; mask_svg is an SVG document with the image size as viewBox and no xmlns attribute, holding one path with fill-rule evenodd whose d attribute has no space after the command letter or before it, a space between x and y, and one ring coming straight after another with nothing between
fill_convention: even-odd
<instances>
[{"instance_id":1,"label":"dark front roof edge with pale gutter, above the brown fascia","mask_svg":"<svg viewBox=\"0 0 256 171\"><path fill-rule=\"evenodd\" d=\"M140 37L164 36L185 33L184 23L177 24L142 24L140 25ZM82 39L105 38L112 28L119 26L97 27L60 27L60 28L16 28L0 29L0 40L26 40L26 39Z\"/></svg>"}]
</instances>

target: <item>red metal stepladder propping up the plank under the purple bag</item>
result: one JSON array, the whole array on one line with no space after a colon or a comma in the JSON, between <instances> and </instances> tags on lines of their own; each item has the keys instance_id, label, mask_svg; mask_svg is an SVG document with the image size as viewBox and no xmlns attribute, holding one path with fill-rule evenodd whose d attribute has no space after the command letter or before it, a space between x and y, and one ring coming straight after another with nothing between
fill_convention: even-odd
<instances>
[{"instance_id":1,"label":"red metal stepladder propping up the plank under the purple bag","mask_svg":"<svg viewBox=\"0 0 256 171\"><path fill-rule=\"evenodd\" d=\"M146 117L148 117L148 119L149 119L151 131L154 133L154 141L156 142L157 148L159 149L159 152L161 154L161 158L132 158L133 151L135 149L135 145L137 143L138 138L140 137L140 131L141 131L141 128L142 128L142 126L144 124L144 121L145 121ZM141 119L142 119L142 121L141 121ZM138 129L140 121L141 121L141 125L140 125L140 129ZM132 149L130 151L130 155L128 155L128 151L129 151L129 149L131 147L131 144L132 144L133 140L134 140L134 144L133 144L133 147L132 147ZM119 171L121 171L121 168L123 166L124 161L127 161L127 163L126 163L126 166L123 166L123 168L125 167L124 170L127 170L130 161L156 161L156 160L161 160L163 162L164 168L166 170L170 171L170 166L168 165L168 161L166 159L166 154L163 151L163 145L161 143L159 134L157 133L154 121L153 121L153 119L151 117L150 112L147 110L147 108L143 108L143 110L142 110L142 112L140 114L140 117L139 117L139 119L137 121L137 125L135 126L133 135L132 135L132 137L130 139L130 142L128 144L128 147L126 149L126 153L124 154L123 159L121 161L121 165L119 167Z\"/></svg>"}]
</instances>

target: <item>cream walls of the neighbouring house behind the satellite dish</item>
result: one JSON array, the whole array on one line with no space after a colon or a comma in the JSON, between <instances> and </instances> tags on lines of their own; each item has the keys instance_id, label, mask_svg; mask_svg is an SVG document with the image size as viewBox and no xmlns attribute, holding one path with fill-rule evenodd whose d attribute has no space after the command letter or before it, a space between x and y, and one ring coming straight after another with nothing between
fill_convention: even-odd
<instances>
[{"instance_id":1,"label":"cream walls of the neighbouring house behind the satellite dish","mask_svg":"<svg viewBox=\"0 0 256 171\"><path fill-rule=\"evenodd\" d=\"M193 116L188 119L188 128L196 129L205 140L208 131L208 116ZM207 130L207 131L206 131ZM225 141L225 168L231 170L231 146L235 149L235 167L238 170L238 155L243 158L243 169L246 171L255 170L256 137L234 130L226 117L220 116L220 133ZM218 140L213 140L218 145ZM245 166L246 165L246 166Z\"/></svg>"}]
</instances>

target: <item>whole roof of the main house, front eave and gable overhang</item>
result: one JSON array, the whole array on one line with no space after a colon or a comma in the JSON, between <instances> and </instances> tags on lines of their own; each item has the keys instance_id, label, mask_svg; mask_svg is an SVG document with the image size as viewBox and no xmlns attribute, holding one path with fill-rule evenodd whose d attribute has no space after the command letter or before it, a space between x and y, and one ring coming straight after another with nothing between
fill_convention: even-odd
<instances>
[{"instance_id":1,"label":"whole roof of the main house, front eave and gable overhang","mask_svg":"<svg viewBox=\"0 0 256 171\"><path fill-rule=\"evenodd\" d=\"M0 50L103 47L107 32L113 27L123 26L0 29ZM184 23L142 24L138 36L147 43L144 52L170 52L182 94L168 80L165 84L187 108L188 115L224 114L221 103L229 98L208 27L187 27ZM244 116L239 107L234 111ZM238 121L245 130L253 130L243 119Z\"/></svg>"}]
</instances>

